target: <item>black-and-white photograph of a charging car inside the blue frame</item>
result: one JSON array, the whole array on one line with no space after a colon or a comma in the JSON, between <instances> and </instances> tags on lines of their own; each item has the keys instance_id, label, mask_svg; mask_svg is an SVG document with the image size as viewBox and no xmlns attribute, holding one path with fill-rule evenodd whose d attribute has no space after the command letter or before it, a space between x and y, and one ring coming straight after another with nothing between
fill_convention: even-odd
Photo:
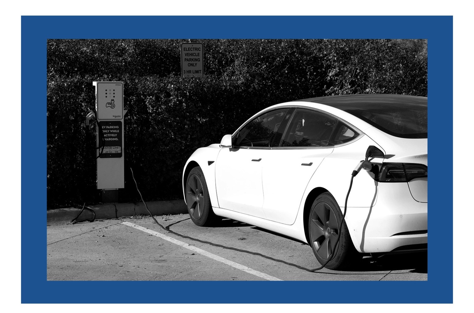
<instances>
[{"instance_id":1,"label":"black-and-white photograph of a charging car inside the blue frame","mask_svg":"<svg viewBox=\"0 0 474 313\"><path fill-rule=\"evenodd\" d=\"M428 281L428 45L48 39L47 281Z\"/></svg>"}]
</instances>

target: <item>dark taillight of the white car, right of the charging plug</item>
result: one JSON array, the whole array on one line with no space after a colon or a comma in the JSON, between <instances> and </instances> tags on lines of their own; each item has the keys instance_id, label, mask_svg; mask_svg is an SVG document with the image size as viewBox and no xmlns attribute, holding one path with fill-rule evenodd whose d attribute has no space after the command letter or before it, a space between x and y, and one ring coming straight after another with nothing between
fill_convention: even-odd
<instances>
[{"instance_id":1,"label":"dark taillight of the white car, right of the charging plug","mask_svg":"<svg viewBox=\"0 0 474 313\"><path fill-rule=\"evenodd\" d=\"M379 168L375 180L381 183L409 182L414 178L428 177L428 166L423 164L382 163L374 165Z\"/></svg>"}]
</instances>

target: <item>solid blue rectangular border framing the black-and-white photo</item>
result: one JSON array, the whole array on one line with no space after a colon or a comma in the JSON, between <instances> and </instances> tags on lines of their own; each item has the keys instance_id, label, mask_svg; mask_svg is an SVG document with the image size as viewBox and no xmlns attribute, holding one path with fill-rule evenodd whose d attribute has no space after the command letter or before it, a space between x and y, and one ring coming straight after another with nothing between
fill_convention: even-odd
<instances>
[{"instance_id":1,"label":"solid blue rectangular border framing the black-and-white photo","mask_svg":"<svg viewBox=\"0 0 474 313\"><path fill-rule=\"evenodd\" d=\"M428 225L432 230L428 240L428 281L46 281L46 39L49 38L427 38L428 150L430 173L434 173L428 190ZM320 300L314 297L314 291L323 287L341 290L341 293L328 293L325 303L453 302L453 242L449 236L453 230L453 177L452 167L446 167L453 161L453 148L449 144L453 138L451 16L23 16L21 83L22 303L314 303ZM441 150L437 149L439 142L443 143ZM439 247L443 247L442 256L437 253ZM210 297L202 299L190 293L183 297L177 291L185 288L205 288ZM94 290L96 296L78 297L78 292L85 290ZM124 290L127 297L117 297L117 292Z\"/></svg>"}]
</instances>

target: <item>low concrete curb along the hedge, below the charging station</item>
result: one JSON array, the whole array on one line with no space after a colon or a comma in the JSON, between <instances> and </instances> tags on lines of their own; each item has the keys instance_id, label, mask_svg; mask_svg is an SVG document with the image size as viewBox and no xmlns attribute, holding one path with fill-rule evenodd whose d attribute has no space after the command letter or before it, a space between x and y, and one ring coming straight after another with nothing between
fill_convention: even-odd
<instances>
[{"instance_id":1,"label":"low concrete curb along the hedge, below the charging station","mask_svg":"<svg viewBox=\"0 0 474 313\"><path fill-rule=\"evenodd\" d=\"M188 213L188 208L183 200L154 201L146 204L153 215ZM149 215L143 203L114 203L89 205L88 207L94 210L96 219L115 219L137 214ZM81 212L81 209L77 208L47 210L46 222L48 224L68 223L72 221L79 212ZM93 216L90 210L85 209L77 220L91 220Z\"/></svg>"}]
</instances>

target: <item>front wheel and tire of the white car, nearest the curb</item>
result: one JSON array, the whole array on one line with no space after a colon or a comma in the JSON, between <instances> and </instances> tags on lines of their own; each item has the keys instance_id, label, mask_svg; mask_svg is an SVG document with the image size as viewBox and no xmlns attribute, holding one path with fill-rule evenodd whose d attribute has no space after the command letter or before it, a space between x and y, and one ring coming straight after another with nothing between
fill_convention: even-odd
<instances>
[{"instance_id":1,"label":"front wheel and tire of the white car, nearest the curb","mask_svg":"<svg viewBox=\"0 0 474 313\"><path fill-rule=\"evenodd\" d=\"M198 226L211 226L218 217L212 211L206 178L201 167L196 166L186 180L186 204L191 220Z\"/></svg>"}]
</instances>

